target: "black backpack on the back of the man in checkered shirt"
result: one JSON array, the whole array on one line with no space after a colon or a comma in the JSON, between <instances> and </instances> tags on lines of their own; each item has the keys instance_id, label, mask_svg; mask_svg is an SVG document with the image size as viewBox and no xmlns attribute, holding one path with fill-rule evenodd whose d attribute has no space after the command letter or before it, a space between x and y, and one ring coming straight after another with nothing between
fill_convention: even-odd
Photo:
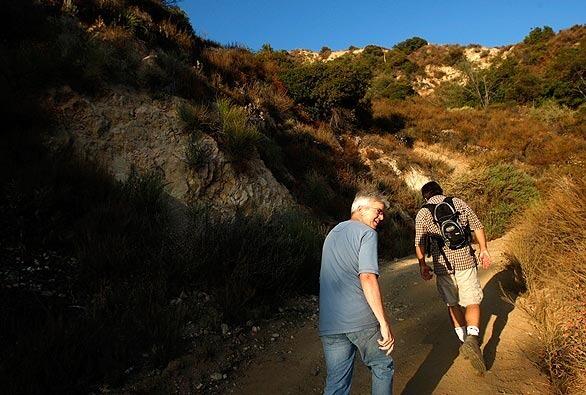
<instances>
[{"instance_id":1,"label":"black backpack on the back of the man in checkered shirt","mask_svg":"<svg viewBox=\"0 0 586 395\"><path fill-rule=\"evenodd\" d=\"M447 197L438 204L425 204L424 208L431 212L433 222L439 227L441 240L432 236L439 244L440 249L445 245L450 250L470 247L472 232L470 226L462 226L458 221L460 212L454 206L454 198Z\"/></svg>"}]
</instances>

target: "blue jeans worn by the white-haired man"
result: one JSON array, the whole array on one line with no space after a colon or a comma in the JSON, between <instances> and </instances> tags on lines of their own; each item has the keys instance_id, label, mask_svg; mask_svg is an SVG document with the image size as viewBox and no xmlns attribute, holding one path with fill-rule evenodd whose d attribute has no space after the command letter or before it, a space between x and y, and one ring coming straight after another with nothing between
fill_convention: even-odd
<instances>
[{"instance_id":1,"label":"blue jeans worn by the white-haired man","mask_svg":"<svg viewBox=\"0 0 586 395\"><path fill-rule=\"evenodd\" d=\"M350 393L356 350L372 373L372 394L392 394L395 372L393 358L379 350L377 340L380 338L378 327L321 337L327 367L324 395Z\"/></svg>"}]
</instances>

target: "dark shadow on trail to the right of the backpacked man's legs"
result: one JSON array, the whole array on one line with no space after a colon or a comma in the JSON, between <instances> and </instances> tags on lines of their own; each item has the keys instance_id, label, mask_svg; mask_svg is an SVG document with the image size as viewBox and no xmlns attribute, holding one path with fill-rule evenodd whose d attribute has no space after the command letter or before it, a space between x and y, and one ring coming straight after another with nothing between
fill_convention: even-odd
<instances>
[{"instance_id":1,"label":"dark shadow on trail to the right of the backpacked man's legs","mask_svg":"<svg viewBox=\"0 0 586 395\"><path fill-rule=\"evenodd\" d=\"M483 347L486 368L492 368L496 358L496 350L500 335L507 325L509 313L515 308L514 302L519 296L519 286L515 282L515 270L508 267L496 273L484 286L484 298L480 304L482 312L480 330L485 333L491 316L496 316L492 325L490 339Z\"/></svg>"}]
</instances>

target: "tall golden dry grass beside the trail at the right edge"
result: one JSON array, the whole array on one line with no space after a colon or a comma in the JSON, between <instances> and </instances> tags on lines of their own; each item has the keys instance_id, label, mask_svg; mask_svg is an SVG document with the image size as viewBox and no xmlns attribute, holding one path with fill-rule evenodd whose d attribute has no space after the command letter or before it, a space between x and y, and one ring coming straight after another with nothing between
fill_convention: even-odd
<instances>
[{"instance_id":1,"label":"tall golden dry grass beside the trail at the right edge","mask_svg":"<svg viewBox=\"0 0 586 395\"><path fill-rule=\"evenodd\" d=\"M586 181L562 178L529 209L507 250L521 266L539 322L542 366L556 393L586 387Z\"/></svg>"}]
</instances>

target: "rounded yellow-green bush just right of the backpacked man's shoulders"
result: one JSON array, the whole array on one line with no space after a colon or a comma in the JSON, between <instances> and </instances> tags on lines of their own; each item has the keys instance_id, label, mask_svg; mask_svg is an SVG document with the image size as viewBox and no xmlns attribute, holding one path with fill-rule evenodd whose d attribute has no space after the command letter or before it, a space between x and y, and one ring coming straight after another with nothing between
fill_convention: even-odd
<instances>
[{"instance_id":1,"label":"rounded yellow-green bush just right of the backpacked man's shoulders","mask_svg":"<svg viewBox=\"0 0 586 395\"><path fill-rule=\"evenodd\" d=\"M534 180L510 164L480 166L454 180L448 195L465 200L480 218L489 239L502 236L539 197Z\"/></svg>"}]
</instances>

